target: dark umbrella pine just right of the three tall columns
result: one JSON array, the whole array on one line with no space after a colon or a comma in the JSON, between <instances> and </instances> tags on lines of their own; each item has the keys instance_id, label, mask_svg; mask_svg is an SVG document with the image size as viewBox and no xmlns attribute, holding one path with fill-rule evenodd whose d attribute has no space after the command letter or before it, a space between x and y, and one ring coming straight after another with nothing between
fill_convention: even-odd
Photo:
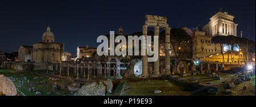
<instances>
[{"instance_id":1,"label":"dark umbrella pine just right of the three tall columns","mask_svg":"<svg viewBox=\"0 0 256 107\"><path fill-rule=\"evenodd\" d=\"M161 38L166 36L166 32L165 31L160 32L159 36L161 40ZM174 58L175 60L174 61L172 60L171 62L174 62L175 64L175 72L177 71L177 63L179 63L182 60L182 58L180 57L180 54L179 55L177 54L176 47L180 46L181 42L191 41L191 39L192 39L191 36L189 36L184 29L181 29L181 28L170 29L170 43L175 54L175 58Z\"/></svg>"}]
</instances>

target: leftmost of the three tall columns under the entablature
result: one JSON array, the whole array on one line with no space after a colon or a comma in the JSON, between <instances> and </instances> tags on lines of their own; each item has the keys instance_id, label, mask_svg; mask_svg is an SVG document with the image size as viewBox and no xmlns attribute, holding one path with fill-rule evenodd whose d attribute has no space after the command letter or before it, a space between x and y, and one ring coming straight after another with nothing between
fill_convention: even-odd
<instances>
[{"instance_id":1,"label":"leftmost of the three tall columns under the entablature","mask_svg":"<svg viewBox=\"0 0 256 107\"><path fill-rule=\"evenodd\" d=\"M145 39L145 44L146 44L146 42L147 42L147 25L143 25L142 32L143 32L144 37L146 38ZM146 48L146 47L143 47L143 48ZM146 48L146 53L147 53L147 48ZM148 73L147 73L147 54L146 54L146 55L142 56L142 76L144 78L146 78L147 75L148 75Z\"/></svg>"}]
</instances>

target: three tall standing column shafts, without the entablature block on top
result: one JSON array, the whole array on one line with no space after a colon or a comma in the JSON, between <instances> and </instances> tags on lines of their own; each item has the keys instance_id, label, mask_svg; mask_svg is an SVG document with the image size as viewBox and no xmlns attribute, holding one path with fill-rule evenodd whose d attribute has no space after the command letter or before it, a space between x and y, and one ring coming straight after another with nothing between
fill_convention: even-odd
<instances>
[{"instance_id":1,"label":"three tall standing column shafts, without the entablature block on top","mask_svg":"<svg viewBox=\"0 0 256 107\"><path fill-rule=\"evenodd\" d=\"M147 41L147 27L148 25L143 25L142 27L142 32L143 32L143 36L145 36L146 41ZM165 53L166 53L166 58L165 58L165 69L166 69L166 75L171 74L170 72L170 27L165 27L164 28L166 31L166 42L165 42ZM159 26L155 26L154 27L154 31L155 31L155 36L159 36ZM158 42L158 59L157 61L154 62L154 77L158 77L160 75L159 72L159 40ZM155 50L154 50L155 51ZM147 48L146 48L146 52L147 52ZM147 59L147 55L143 55L142 56L142 76L143 77L147 77L148 76L148 59Z\"/></svg>"}]
</instances>

